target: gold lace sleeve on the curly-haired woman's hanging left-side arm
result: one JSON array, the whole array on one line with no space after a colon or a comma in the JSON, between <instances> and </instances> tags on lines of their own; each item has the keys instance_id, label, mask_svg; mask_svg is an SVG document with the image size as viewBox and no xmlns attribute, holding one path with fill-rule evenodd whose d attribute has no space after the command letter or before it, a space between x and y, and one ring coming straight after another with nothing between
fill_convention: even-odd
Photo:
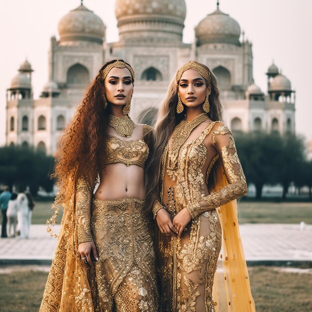
<instances>
[{"instance_id":1,"label":"gold lace sleeve on the curly-haired woman's hanging left-side arm","mask_svg":"<svg viewBox=\"0 0 312 312\"><path fill-rule=\"evenodd\" d=\"M79 178L76 186L76 224L78 244L93 240L90 227L90 212L93 189L84 178Z\"/></svg>"}]
</instances>

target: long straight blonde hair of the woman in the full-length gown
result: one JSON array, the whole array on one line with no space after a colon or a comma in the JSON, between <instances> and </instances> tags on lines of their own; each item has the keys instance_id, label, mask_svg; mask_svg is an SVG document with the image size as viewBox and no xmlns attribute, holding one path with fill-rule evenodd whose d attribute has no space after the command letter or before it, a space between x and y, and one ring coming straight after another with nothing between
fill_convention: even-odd
<instances>
[{"instance_id":1,"label":"long straight blonde hair of the woman in the full-length gown","mask_svg":"<svg viewBox=\"0 0 312 312\"><path fill-rule=\"evenodd\" d=\"M211 77L211 93L209 95L210 111L207 113L212 121L222 120L222 105L220 102L220 90L218 88L217 78L213 75L210 69L201 64L209 73ZM206 81L206 80L205 80ZM161 170L161 156L163 150L173 132L174 127L185 117L186 106L183 104L184 110L178 114L176 112L176 105L178 101L177 88L178 82L176 75L170 82L167 95L160 104L158 116L156 120L153 149L151 156L148 158L146 164L146 203L145 211L150 212L153 204L159 199L159 181ZM206 81L208 88L209 82Z\"/></svg>"}]
</instances>

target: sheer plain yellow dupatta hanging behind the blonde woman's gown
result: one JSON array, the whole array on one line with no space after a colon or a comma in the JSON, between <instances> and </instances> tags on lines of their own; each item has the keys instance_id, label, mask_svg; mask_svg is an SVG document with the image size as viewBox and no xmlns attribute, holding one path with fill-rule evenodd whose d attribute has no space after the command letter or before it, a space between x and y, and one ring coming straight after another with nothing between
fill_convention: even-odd
<instances>
[{"instance_id":1,"label":"sheer plain yellow dupatta hanging behind the blonde woman's gown","mask_svg":"<svg viewBox=\"0 0 312 312\"><path fill-rule=\"evenodd\" d=\"M209 183L211 192L228 184L220 159L216 161L213 167L211 177L209 176L210 181L212 177L212 183ZM211 184L214 184L213 187ZM227 302L223 307L226 305L228 312L255 312L246 258L239 233L237 201L233 200L216 210L222 227L222 253L220 257L223 264L224 286L218 283L218 274L216 273L213 286L215 310L216 312L226 311L220 309L222 306L220 301L224 301L226 297Z\"/></svg>"}]
</instances>

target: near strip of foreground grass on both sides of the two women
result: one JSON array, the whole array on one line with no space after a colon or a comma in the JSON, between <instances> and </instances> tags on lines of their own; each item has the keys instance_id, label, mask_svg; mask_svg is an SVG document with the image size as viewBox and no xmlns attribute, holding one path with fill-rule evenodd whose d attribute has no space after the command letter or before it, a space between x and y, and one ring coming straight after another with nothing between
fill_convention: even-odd
<instances>
[{"instance_id":1,"label":"near strip of foreground grass on both sides of the two women","mask_svg":"<svg viewBox=\"0 0 312 312\"><path fill-rule=\"evenodd\" d=\"M250 269L256 311L312 311L312 271L288 273L281 270L272 267ZM38 271L0 274L0 311L37 312L46 279L47 273Z\"/></svg>"}]
</instances>

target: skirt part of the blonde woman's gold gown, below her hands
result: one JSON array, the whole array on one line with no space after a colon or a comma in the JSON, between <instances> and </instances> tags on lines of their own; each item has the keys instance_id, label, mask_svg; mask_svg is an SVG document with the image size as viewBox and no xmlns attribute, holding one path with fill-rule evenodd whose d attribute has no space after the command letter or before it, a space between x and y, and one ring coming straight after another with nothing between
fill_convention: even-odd
<instances>
[{"instance_id":1,"label":"skirt part of the blonde woman's gold gown, below her hands","mask_svg":"<svg viewBox=\"0 0 312 312\"><path fill-rule=\"evenodd\" d=\"M215 209L192 220L181 238L156 226L156 260L161 312L215 312L212 286L221 249Z\"/></svg>"}]
</instances>

